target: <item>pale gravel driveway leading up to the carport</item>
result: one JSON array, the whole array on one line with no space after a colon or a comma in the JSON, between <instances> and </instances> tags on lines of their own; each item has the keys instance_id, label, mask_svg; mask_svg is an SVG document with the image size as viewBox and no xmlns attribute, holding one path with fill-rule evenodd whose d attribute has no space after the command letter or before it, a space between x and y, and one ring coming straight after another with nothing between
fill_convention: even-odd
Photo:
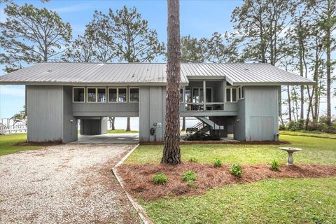
<instances>
[{"instance_id":1,"label":"pale gravel driveway leading up to the carport","mask_svg":"<svg viewBox=\"0 0 336 224\"><path fill-rule=\"evenodd\" d=\"M111 168L132 144L48 146L0 157L0 223L139 223Z\"/></svg>"}]
</instances>

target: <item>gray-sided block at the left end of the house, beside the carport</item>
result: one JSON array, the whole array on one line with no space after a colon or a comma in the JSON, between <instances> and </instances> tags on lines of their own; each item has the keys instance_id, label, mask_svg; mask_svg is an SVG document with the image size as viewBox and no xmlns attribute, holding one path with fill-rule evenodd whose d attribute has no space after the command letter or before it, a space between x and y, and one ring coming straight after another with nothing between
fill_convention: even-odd
<instances>
[{"instance_id":1,"label":"gray-sided block at the left end of the house, beside the carport","mask_svg":"<svg viewBox=\"0 0 336 224\"><path fill-rule=\"evenodd\" d=\"M28 141L77 139L77 120L72 116L69 95L70 87L27 86Z\"/></svg>"}]
</instances>

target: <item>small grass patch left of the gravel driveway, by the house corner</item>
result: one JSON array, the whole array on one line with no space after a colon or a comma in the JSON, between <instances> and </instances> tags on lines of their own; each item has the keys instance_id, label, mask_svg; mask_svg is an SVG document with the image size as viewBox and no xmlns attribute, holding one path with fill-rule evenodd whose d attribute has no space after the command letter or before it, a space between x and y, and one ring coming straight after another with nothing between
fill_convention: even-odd
<instances>
[{"instance_id":1,"label":"small grass patch left of the gravel driveway, by the house corner","mask_svg":"<svg viewBox=\"0 0 336 224\"><path fill-rule=\"evenodd\" d=\"M25 133L0 135L0 155L41 148L41 146L13 146L23 141L27 141L27 134Z\"/></svg>"}]
</instances>

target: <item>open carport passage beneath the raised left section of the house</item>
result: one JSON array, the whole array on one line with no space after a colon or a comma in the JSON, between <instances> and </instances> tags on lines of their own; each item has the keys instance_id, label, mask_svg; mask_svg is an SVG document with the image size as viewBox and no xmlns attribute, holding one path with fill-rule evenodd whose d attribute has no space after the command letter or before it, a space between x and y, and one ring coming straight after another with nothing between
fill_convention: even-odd
<instances>
[{"instance_id":1,"label":"open carport passage beneath the raised left section of the house","mask_svg":"<svg viewBox=\"0 0 336 224\"><path fill-rule=\"evenodd\" d=\"M139 142L139 118L85 117L78 119L78 140L83 144L122 144Z\"/></svg>"}]
</instances>

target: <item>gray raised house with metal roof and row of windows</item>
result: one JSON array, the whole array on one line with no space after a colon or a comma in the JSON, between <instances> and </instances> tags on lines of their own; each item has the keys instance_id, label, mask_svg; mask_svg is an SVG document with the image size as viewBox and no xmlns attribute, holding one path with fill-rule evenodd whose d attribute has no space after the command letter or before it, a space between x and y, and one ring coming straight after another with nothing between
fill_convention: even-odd
<instances>
[{"instance_id":1,"label":"gray raised house with metal roof and row of windows","mask_svg":"<svg viewBox=\"0 0 336 224\"><path fill-rule=\"evenodd\" d=\"M108 117L139 117L139 141L162 141L166 64L43 62L0 76L26 86L28 141L106 133ZM281 85L314 85L269 64L181 64L181 116L240 141L274 141Z\"/></svg>"}]
</instances>

